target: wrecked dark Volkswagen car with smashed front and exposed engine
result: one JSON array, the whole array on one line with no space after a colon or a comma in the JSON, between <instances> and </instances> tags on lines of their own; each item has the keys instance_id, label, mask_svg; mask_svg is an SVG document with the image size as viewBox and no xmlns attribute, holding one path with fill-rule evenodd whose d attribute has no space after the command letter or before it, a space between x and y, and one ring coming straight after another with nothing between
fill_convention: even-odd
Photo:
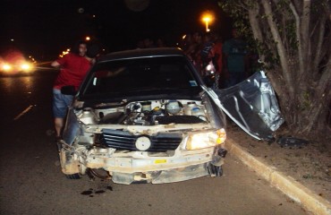
<instances>
[{"instance_id":1,"label":"wrecked dark Volkswagen car with smashed front and exposed engine","mask_svg":"<svg viewBox=\"0 0 331 215\"><path fill-rule=\"evenodd\" d=\"M177 48L102 56L69 107L59 142L62 171L71 179L89 174L126 185L222 176L224 112L242 124L225 109L222 93L209 89ZM274 128L282 121L278 112L268 119ZM272 133L268 127L254 133L242 124L262 139Z\"/></svg>"}]
</instances>

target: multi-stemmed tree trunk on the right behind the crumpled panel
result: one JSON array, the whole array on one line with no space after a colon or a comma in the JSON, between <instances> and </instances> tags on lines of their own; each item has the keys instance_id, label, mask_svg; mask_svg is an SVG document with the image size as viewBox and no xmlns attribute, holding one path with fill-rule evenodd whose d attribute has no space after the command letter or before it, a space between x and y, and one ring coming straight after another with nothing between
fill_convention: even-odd
<instances>
[{"instance_id":1,"label":"multi-stemmed tree trunk on the right behind the crumpled panel","mask_svg":"<svg viewBox=\"0 0 331 215\"><path fill-rule=\"evenodd\" d=\"M288 130L306 137L331 133L331 0L224 2L234 19L244 13L241 24L250 22Z\"/></svg>"}]
</instances>

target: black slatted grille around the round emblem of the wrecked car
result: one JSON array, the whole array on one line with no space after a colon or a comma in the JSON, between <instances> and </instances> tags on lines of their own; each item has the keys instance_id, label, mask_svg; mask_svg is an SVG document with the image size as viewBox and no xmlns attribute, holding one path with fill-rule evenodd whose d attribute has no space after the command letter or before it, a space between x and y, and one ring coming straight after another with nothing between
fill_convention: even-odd
<instances>
[{"instance_id":1,"label":"black slatted grille around the round emblem of the wrecked car","mask_svg":"<svg viewBox=\"0 0 331 215\"><path fill-rule=\"evenodd\" d=\"M129 132L103 129L100 143L116 150L138 150L135 143L140 136L132 135ZM157 133L156 135L145 136L149 137L151 142L149 149L145 151L176 150L182 142L181 133Z\"/></svg>"}]
</instances>

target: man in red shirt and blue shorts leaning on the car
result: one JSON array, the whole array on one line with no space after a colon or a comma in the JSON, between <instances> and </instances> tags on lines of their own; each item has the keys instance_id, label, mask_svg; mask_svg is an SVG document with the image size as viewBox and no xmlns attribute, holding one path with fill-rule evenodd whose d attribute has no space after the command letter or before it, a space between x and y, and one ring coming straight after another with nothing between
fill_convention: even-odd
<instances>
[{"instance_id":1,"label":"man in red shirt and blue shorts leaning on the car","mask_svg":"<svg viewBox=\"0 0 331 215\"><path fill-rule=\"evenodd\" d=\"M73 95L64 95L61 93L61 89L63 87L72 86L74 90L78 90L91 65L89 58L86 57L87 50L87 43L80 41L70 53L55 60L51 64L54 67L61 67L53 87L53 115L56 140L61 139L64 117L73 99Z\"/></svg>"}]
</instances>

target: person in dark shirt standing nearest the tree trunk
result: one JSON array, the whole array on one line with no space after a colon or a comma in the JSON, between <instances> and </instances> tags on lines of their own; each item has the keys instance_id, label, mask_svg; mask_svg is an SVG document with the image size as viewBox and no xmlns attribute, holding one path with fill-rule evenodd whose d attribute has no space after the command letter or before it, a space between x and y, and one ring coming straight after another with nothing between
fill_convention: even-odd
<instances>
[{"instance_id":1,"label":"person in dark shirt standing nearest the tree trunk","mask_svg":"<svg viewBox=\"0 0 331 215\"><path fill-rule=\"evenodd\" d=\"M226 40L222 47L225 88L242 82L248 71L247 45L240 39L237 30L233 30L232 34L233 38Z\"/></svg>"}]
</instances>

